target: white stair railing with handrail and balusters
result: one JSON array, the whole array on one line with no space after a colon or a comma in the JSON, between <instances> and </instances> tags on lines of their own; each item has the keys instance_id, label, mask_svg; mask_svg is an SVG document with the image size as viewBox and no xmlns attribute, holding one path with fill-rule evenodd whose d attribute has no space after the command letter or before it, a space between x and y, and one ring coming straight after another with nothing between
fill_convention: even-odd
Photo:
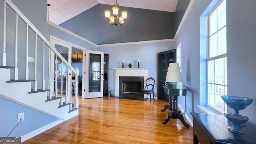
<instances>
[{"instance_id":1,"label":"white stair railing with handrail and balusters","mask_svg":"<svg viewBox=\"0 0 256 144\"><path fill-rule=\"evenodd\" d=\"M26 23L26 80L28 80L29 76L29 68L28 68L28 62L29 62L29 57L28 57L28 28L31 28L35 32L35 55L34 55L34 91L37 91L37 38L39 37L43 41L43 60L42 60L42 90L45 90L45 45L47 45L50 50L49 50L49 67L51 65L50 62L50 57L51 57L51 52L54 52L54 55L56 56L56 62L57 59L59 58L62 63L66 64L67 71L69 69L70 73L66 74L66 76L70 76L71 79L71 74L74 73L75 75L75 98L74 98L74 108L78 108L78 68L74 69L66 60L65 58L54 48L50 42L44 37L44 35L26 18L26 16L13 4L11 0L3 0L4 1L4 17L3 17L3 50L2 50L2 66L6 66L6 4L12 8L12 10L16 13L16 29L15 29L15 50L14 50L14 80L19 80L18 79L18 17L20 17L25 23ZM55 69L55 78L57 81L57 67ZM51 89L52 82L50 79L50 69L49 69L49 81L48 81L48 89ZM63 82L63 80L61 80ZM62 83L61 83L62 85ZM71 85L71 80L70 80L70 85ZM67 90L68 88L68 83L66 82L66 98L65 98L65 103L72 103L72 95L71 95L71 90ZM55 89L55 98L58 97L58 89ZM61 88L61 97L62 95L62 89ZM68 93L67 93L68 92ZM50 98L50 92L48 93L48 98ZM62 105L62 100L60 100L60 106ZM70 104L70 110L72 110L72 104Z\"/></svg>"}]
</instances>

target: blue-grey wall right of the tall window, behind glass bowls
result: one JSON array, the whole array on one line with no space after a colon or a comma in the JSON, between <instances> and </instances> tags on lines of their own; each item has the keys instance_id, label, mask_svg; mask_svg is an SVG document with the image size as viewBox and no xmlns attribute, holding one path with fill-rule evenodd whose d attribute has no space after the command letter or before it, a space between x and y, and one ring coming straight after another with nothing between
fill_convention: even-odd
<instances>
[{"instance_id":1,"label":"blue-grey wall right of the tall window, behind glass bowls","mask_svg":"<svg viewBox=\"0 0 256 144\"><path fill-rule=\"evenodd\" d=\"M256 1L226 0L226 6L228 95L254 98L240 114L256 124Z\"/></svg>"}]
</instances>

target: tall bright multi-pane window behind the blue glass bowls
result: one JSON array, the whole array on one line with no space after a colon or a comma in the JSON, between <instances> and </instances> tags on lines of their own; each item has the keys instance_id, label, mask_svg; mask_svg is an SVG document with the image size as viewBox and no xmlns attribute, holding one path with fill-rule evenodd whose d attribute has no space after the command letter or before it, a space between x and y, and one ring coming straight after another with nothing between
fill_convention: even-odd
<instances>
[{"instance_id":1,"label":"tall bright multi-pane window behind the blue glass bowls","mask_svg":"<svg viewBox=\"0 0 256 144\"><path fill-rule=\"evenodd\" d=\"M227 94L226 0L208 14L207 106L227 112L221 96Z\"/></svg>"}]
</instances>

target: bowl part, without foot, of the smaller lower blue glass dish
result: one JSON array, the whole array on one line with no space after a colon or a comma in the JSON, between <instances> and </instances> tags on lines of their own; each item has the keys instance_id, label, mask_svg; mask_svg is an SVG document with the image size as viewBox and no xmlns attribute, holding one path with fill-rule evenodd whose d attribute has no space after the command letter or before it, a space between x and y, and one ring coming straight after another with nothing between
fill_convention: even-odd
<instances>
[{"instance_id":1,"label":"bowl part, without foot, of the smaller lower blue glass dish","mask_svg":"<svg viewBox=\"0 0 256 144\"><path fill-rule=\"evenodd\" d=\"M247 116L242 116L241 114L234 114L232 112L224 113L224 116L226 116L226 118L233 124L238 125L245 124L249 120Z\"/></svg>"}]
</instances>

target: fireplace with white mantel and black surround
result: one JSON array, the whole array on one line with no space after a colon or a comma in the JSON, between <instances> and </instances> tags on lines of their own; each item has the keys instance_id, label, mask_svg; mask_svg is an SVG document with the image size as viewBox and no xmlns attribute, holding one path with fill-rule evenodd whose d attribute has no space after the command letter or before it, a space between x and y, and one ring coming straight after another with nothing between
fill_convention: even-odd
<instances>
[{"instance_id":1,"label":"fireplace with white mantel and black surround","mask_svg":"<svg viewBox=\"0 0 256 144\"><path fill-rule=\"evenodd\" d=\"M128 96L129 94L131 94L134 90L134 87L129 87L129 86L134 86L134 85L139 85L137 84L137 81L140 81L140 88L137 88L137 93L138 93L138 89L142 89L144 88L144 80L146 80L148 78L148 70L150 68L113 68L116 72L116 77L115 77L115 96L121 96L121 95L126 95ZM128 88L131 89L130 92L126 93L123 92L122 86L123 83L120 83L120 78L122 77L130 77L130 78L136 78L136 79L128 79L131 82L125 82L128 85ZM138 77L143 78L138 80ZM121 89L120 89L121 88ZM126 89L127 90L127 89ZM125 91L126 91L125 90ZM134 93L132 93L134 94ZM136 94L136 93L135 93ZM142 96L141 94L137 94L137 96Z\"/></svg>"}]
</instances>

